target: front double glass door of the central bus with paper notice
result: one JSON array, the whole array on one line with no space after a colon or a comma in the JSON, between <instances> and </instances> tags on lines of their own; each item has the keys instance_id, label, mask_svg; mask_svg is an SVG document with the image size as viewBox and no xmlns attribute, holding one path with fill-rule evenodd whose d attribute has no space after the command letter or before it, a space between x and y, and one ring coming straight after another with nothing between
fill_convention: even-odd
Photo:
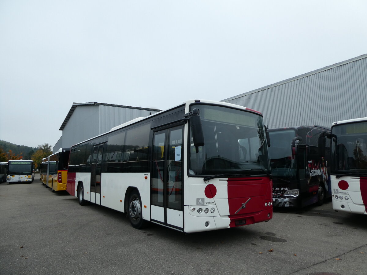
<instances>
[{"instance_id":1,"label":"front double glass door of the central bus with paper notice","mask_svg":"<svg viewBox=\"0 0 367 275\"><path fill-rule=\"evenodd\" d=\"M153 136L151 219L183 229L183 126Z\"/></svg>"}]
</instances>

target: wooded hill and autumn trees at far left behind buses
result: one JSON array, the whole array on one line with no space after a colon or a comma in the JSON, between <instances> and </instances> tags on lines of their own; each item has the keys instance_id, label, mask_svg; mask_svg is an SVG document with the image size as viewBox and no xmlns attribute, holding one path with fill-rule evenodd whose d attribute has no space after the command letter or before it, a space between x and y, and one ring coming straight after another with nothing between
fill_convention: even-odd
<instances>
[{"instance_id":1,"label":"wooded hill and autumn trees at far left behind buses","mask_svg":"<svg viewBox=\"0 0 367 275\"><path fill-rule=\"evenodd\" d=\"M0 140L0 162L7 162L13 159L31 159L34 161L35 168L37 169L42 159L51 154L52 148L48 143L33 148Z\"/></svg>"}]
</instances>

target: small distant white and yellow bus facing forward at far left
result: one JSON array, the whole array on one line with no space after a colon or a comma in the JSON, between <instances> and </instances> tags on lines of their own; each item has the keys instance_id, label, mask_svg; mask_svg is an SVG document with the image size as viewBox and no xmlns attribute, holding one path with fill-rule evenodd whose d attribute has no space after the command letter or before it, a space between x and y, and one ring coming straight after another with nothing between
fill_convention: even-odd
<instances>
[{"instance_id":1,"label":"small distant white and yellow bus facing forward at far left","mask_svg":"<svg viewBox=\"0 0 367 275\"><path fill-rule=\"evenodd\" d=\"M8 173L6 181L8 183L27 182L34 180L34 163L32 160L10 160L8 161Z\"/></svg>"}]
</instances>

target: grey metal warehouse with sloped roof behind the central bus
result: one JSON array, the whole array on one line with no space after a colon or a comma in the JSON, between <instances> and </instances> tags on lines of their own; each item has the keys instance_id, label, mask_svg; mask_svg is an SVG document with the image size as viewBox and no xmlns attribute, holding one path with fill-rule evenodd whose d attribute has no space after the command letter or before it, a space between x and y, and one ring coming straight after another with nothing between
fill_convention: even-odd
<instances>
[{"instance_id":1,"label":"grey metal warehouse with sloped roof behind the central bus","mask_svg":"<svg viewBox=\"0 0 367 275\"><path fill-rule=\"evenodd\" d=\"M161 110L98 102L73 103L59 129L62 136L53 147L53 152L101 135L134 118L146 117L159 111Z\"/></svg>"}]
</instances>

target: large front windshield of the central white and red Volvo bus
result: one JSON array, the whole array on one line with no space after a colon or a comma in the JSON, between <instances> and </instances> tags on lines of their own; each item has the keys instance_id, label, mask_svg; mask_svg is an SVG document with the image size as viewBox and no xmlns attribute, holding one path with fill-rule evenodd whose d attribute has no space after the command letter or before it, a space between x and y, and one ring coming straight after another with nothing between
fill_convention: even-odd
<instances>
[{"instance_id":1,"label":"large front windshield of the central white and red Volvo bus","mask_svg":"<svg viewBox=\"0 0 367 275\"><path fill-rule=\"evenodd\" d=\"M190 175L270 173L268 146L261 115L221 106L199 108L204 146L190 146ZM264 171L265 170L265 171Z\"/></svg>"}]
</instances>

